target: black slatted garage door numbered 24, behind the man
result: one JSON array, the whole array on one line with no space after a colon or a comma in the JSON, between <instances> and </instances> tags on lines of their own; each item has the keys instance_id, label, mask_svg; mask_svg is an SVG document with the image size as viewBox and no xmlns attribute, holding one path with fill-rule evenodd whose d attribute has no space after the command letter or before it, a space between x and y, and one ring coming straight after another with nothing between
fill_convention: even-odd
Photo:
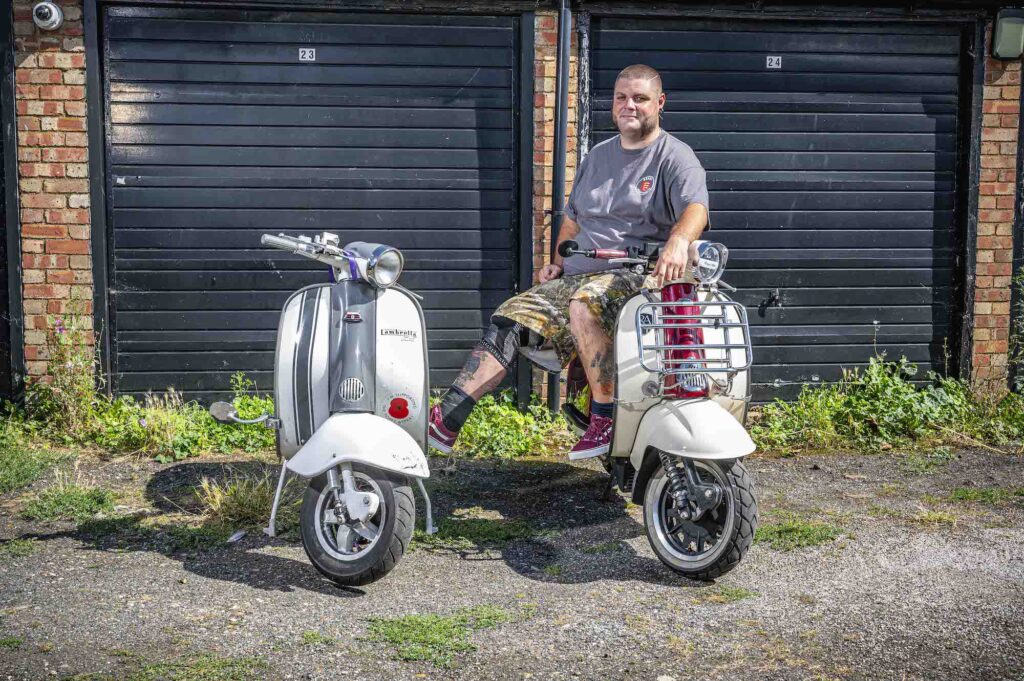
<instances>
[{"instance_id":1,"label":"black slatted garage door numbered 24, behind the man","mask_svg":"<svg viewBox=\"0 0 1024 681\"><path fill-rule=\"evenodd\" d=\"M600 19L591 40L592 142L611 134L615 74L645 62L663 74L665 128L709 171L756 400L876 351L942 370L956 347L957 29Z\"/></svg>"}]
</instances>

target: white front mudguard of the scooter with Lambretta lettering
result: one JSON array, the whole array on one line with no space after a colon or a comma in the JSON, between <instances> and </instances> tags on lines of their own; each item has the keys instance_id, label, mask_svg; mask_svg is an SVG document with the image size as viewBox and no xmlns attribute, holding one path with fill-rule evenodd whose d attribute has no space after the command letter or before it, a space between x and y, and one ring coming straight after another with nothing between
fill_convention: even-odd
<instances>
[{"instance_id":1,"label":"white front mudguard of the scooter with Lambretta lettering","mask_svg":"<svg viewBox=\"0 0 1024 681\"><path fill-rule=\"evenodd\" d=\"M358 463L413 477L430 477L427 458L401 426L374 414L335 414L286 464L314 477L341 463Z\"/></svg>"}]
</instances>

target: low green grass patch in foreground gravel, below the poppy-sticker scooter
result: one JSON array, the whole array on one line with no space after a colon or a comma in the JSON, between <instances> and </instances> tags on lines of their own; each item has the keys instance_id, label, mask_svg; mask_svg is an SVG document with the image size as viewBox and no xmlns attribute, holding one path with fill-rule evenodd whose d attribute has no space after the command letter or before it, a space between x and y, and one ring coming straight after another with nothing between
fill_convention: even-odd
<instances>
[{"instance_id":1,"label":"low green grass patch in foreground gravel, below the poppy-sticker scooter","mask_svg":"<svg viewBox=\"0 0 1024 681\"><path fill-rule=\"evenodd\" d=\"M370 621L369 638L390 644L397 659L424 661L435 667L451 668L456 655L476 650L469 640L473 631L492 629L513 619L508 610L494 605L466 608L450 615L375 618Z\"/></svg>"}]
</instances>

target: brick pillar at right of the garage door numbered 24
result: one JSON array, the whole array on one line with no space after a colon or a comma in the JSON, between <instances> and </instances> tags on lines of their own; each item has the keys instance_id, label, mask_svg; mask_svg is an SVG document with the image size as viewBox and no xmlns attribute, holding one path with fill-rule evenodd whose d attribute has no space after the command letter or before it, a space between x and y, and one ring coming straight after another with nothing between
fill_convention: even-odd
<instances>
[{"instance_id":1,"label":"brick pillar at right of the garage door numbered 24","mask_svg":"<svg viewBox=\"0 0 1024 681\"><path fill-rule=\"evenodd\" d=\"M981 134L972 377L976 386L986 392L1006 389L1020 99L1021 62L988 58Z\"/></svg>"}]
</instances>

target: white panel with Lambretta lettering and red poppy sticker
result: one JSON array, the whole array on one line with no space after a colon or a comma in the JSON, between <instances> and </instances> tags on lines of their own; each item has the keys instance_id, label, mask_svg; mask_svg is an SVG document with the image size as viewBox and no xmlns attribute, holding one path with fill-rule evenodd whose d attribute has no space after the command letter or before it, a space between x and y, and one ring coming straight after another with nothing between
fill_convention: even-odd
<instances>
[{"instance_id":1,"label":"white panel with Lambretta lettering and red poppy sticker","mask_svg":"<svg viewBox=\"0 0 1024 681\"><path fill-rule=\"evenodd\" d=\"M388 289L377 299L376 414L401 426L424 452L427 389L423 312L412 296Z\"/></svg>"}]
</instances>

